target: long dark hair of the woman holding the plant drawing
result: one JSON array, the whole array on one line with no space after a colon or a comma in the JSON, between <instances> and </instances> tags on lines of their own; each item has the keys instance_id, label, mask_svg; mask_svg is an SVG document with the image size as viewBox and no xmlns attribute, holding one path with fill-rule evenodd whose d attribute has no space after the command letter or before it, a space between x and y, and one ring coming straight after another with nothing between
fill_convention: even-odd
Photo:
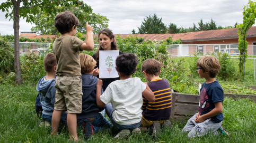
<instances>
[{"instance_id":1,"label":"long dark hair of the woman holding the plant drawing","mask_svg":"<svg viewBox=\"0 0 256 143\"><path fill-rule=\"evenodd\" d=\"M100 39L100 34L105 34L107 35L110 40L113 39L113 42L111 42L111 50L118 50L117 48L117 43L116 43L116 40L114 40L114 34L111 30L109 29L103 29L99 32L98 34L98 41ZM96 56L95 56L95 59L96 59L96 62L99 63L99 55L100 55L100 50L103 50L103 48L101 47L101 45L99 44L99 48L96 52Z\"/></svg>"}]
</instances>

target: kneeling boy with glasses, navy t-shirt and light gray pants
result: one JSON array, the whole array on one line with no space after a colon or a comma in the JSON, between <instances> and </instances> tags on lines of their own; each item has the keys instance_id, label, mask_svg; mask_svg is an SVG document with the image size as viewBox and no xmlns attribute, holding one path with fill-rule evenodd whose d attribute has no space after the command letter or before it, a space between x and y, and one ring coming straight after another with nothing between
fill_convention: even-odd
<instances>
[{"instance_id":1,"label":"kneeling boy with glasses, navy t-shirt and light gray pants","mask_svg":"<svg viewBox=\"0 0 256 143\"><path fill-rule=\"evenodd\" d=\"M202 56L197 61L197 72L205 82L200 89L199 111L191 117L182 132L188 132L188 137L200 137L208 133L228 135L222 126L224 119L222 103L224 92L215 79L220 70L219 61L211 55Z\"/></svg>"}]
</instances>

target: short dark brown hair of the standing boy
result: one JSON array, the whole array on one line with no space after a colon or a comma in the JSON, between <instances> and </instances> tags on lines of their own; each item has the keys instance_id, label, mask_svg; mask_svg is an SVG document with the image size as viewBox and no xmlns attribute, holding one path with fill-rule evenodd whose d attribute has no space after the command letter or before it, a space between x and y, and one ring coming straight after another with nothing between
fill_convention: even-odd
<instances>
[{"instance_id":1,"label":"short dark brown hair of the standing boy","mask_svg":"<svg viewBox=\"0 0 256 143\"><path fill-rule=\"evenodd\" d=\"M74 25L75 27L78 26L79 21L77 17L69 11L61 12L55 17L55 27L61 34L70 32Z\"/></svg>"}]
</instances>

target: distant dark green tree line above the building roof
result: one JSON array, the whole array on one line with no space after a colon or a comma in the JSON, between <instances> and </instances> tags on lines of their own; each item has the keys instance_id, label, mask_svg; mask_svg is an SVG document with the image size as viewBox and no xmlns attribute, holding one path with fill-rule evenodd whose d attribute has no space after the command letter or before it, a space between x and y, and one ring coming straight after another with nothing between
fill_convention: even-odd
<instances>
[{"instance_id":1,"label":"distant dark green tree line above the building roof","mask_svg":"<svg viewBox=\"0 0 256 143\"><path fill-rule=\"evenodd\" d=\"M196 32L196 31L208 31L208 30L219 30L224 28L235 28L237 23L234 26L217 26L216 22L211 18L211 21L208 23L204 23L202 19L198 22L198 26L193 23L192 27L183 28L177 27L176 24L170 23L169 27L167 27L162 22L162 17L158 18L156 14L153 16L149 15L144 18L140 27L138 27L138 33L133 29L131 33L133 34L165 34L165 33L187 33L187 32Z\"/></svg>"}]
</instances>

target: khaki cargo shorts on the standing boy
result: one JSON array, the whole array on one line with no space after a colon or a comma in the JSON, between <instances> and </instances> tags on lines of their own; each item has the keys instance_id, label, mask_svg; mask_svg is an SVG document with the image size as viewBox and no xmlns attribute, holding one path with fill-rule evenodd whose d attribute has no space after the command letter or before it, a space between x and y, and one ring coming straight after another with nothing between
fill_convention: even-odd
<instances>
[{"instance_id":1,"label":"khaki cargo shorts on the standing boy","mask_svg":"<svg viewBox=\"0 0 256 143\"><path fill-rule=\"evenodd\" d=\"M82 80L81 76L56 77L56 96L54 110L67 111L68 113L82 112Z\"/></svg>"}]
</instances>

